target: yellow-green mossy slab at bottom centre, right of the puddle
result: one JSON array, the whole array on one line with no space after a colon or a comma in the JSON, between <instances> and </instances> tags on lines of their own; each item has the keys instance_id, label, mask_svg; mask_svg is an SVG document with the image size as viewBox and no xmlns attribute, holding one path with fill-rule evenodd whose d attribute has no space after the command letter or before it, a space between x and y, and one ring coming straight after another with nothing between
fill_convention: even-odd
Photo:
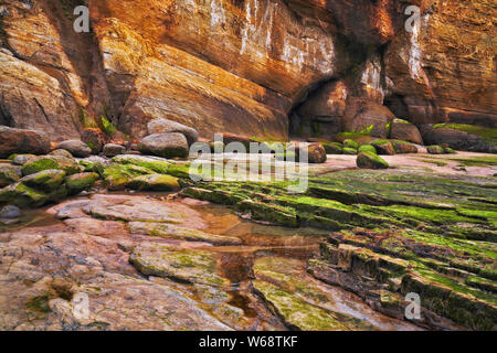
<instances>
[{"instance_id":1,"label":"yellow-green mossy slab at bottom centre, right of the puddle","mask_svg":"<svg viewBox=\"0 0 497 353\"><path fill-rule=\"evenodd\" d=\"M254 263L255 291L289 325L300 330L416 330L378 314L353 295L324 286L297 259L261 257Z\"/></svg>"}]
</instances>

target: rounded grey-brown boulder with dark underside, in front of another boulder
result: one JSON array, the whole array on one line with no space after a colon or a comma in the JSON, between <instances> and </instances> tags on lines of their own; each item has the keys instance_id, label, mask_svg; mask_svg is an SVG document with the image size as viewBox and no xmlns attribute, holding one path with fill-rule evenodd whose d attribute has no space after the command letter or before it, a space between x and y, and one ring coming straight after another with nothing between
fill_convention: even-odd
<instances>
[{"instance_id":1,"label":"rounded grey-brown boulder with dark underside, in front of another boulder","mask_svg":"<svg viewBox=\"0 0 497 353\"><path fill-rule=\"evenodd\" d=\"M141 139L138 150L144 154L156 154L163 158L188 156L188 140L179 132L149 135Z\"/></svg>"}]
</instances>

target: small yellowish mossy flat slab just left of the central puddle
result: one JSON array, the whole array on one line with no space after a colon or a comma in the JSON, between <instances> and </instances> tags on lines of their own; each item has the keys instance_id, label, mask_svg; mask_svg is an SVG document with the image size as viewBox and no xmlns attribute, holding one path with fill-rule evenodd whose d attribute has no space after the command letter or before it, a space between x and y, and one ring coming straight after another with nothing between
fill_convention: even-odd
<instances>
[{"instance_id":1,"label":"small yellowish mossy flat slab just left of the central puddle","mask_svg":"<svg viewBox=\"0 0 497 353\"><path fill-rule=\"evenodd\" d=\"M218 259L211 252L144 243L135 247L129 263L145 276L209 286L231 285L218 275Z\"/></svg>"}]
</instances>

